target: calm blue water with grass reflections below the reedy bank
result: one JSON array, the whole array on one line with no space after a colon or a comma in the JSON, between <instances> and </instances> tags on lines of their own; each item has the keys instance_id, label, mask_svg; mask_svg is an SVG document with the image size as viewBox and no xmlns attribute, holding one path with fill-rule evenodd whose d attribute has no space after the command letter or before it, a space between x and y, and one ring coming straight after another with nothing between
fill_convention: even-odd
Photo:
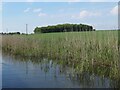
<instances>
[{"instance_id":1,"label":"calm blue water with grass reflections below the reedy bank","mask_svg":"<svg viewBox=\"0 0 120 90\"><path fill-rule=\"evenodd\" d=\"M4 88L109 88L115 81L74 69L47 59L23 59L3 55Z\"/></svg>"}]
</instances>

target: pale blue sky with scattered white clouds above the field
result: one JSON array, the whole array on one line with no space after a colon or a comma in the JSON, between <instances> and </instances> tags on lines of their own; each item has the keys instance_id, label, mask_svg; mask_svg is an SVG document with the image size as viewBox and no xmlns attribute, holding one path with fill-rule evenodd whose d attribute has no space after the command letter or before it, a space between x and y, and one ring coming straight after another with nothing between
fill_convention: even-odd
<instances>
[{"instance_id":1,"label":"pale blue sky with scattered white clouds above the field","mask_svg":"<svg viewBox=\"0 0 120 90\"><path fill-rule=\"evenodd\" d=\"M9 1L9 2L8 2ZM118 28L118 2L99 2L100 0L4 0L2 3L2 29L0 32L33 33L35 27L76 23L92 25L97 30ZM73 2L74 1L74 2ZM1 6L1 5L0 5Z\"/></svg>"}]
</instances>

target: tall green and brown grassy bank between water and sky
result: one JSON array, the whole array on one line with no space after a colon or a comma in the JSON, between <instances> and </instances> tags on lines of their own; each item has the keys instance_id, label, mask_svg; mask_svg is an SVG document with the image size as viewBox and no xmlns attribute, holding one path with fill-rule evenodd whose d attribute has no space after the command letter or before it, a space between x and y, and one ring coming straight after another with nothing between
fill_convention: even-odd
<instances>
[{"instance_id":1,"label":"tall green and brown grassy bank between water and sky","mask_svg":"<svg viewBox=\"0 0 120 90\"><path fill-rule=\"evenodd\" d=\"M4 35L2 39L3 52L12 55L47 57L79 73L120 77L117 31Z\"/></svg>"}]
</instances>

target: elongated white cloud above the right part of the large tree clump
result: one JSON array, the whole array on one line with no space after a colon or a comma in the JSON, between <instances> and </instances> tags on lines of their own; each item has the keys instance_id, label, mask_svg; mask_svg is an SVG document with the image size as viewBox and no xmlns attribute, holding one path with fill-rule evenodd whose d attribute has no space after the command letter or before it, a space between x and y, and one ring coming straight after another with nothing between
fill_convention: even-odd
<instances>
[{"instance_id":1,"label":"elongated white cloud above the right part of the large tree clump","mask_svg":"<svg viewBox=\"0 0 120 90\"><path fill-rule=\"evenodd\" d=\"M79 18L85 18L85 17L91 17L91 16L100 16L100 15L101 15L100 12L90 12L90 11L83 10L80 12Z\"/></svg>"}]
</instances>

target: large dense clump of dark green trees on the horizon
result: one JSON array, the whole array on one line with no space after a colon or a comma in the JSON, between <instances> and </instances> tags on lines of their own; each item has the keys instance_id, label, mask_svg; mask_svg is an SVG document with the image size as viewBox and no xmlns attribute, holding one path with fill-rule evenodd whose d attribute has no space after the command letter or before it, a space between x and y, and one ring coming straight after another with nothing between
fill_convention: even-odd
<instances>
[{"instance_id":1,"label":"large dense clump of dark green trees on the horizon","mask_svg":"<svg viewBox=\"0 0 120 90\"><path fill-rule=\"evenodd\" d=\"M46 27L36 27L34 33L51 33L51 32L80 32L95 31L92 26L85 24L58 24Z\"/></svg>"}]
</instances>

